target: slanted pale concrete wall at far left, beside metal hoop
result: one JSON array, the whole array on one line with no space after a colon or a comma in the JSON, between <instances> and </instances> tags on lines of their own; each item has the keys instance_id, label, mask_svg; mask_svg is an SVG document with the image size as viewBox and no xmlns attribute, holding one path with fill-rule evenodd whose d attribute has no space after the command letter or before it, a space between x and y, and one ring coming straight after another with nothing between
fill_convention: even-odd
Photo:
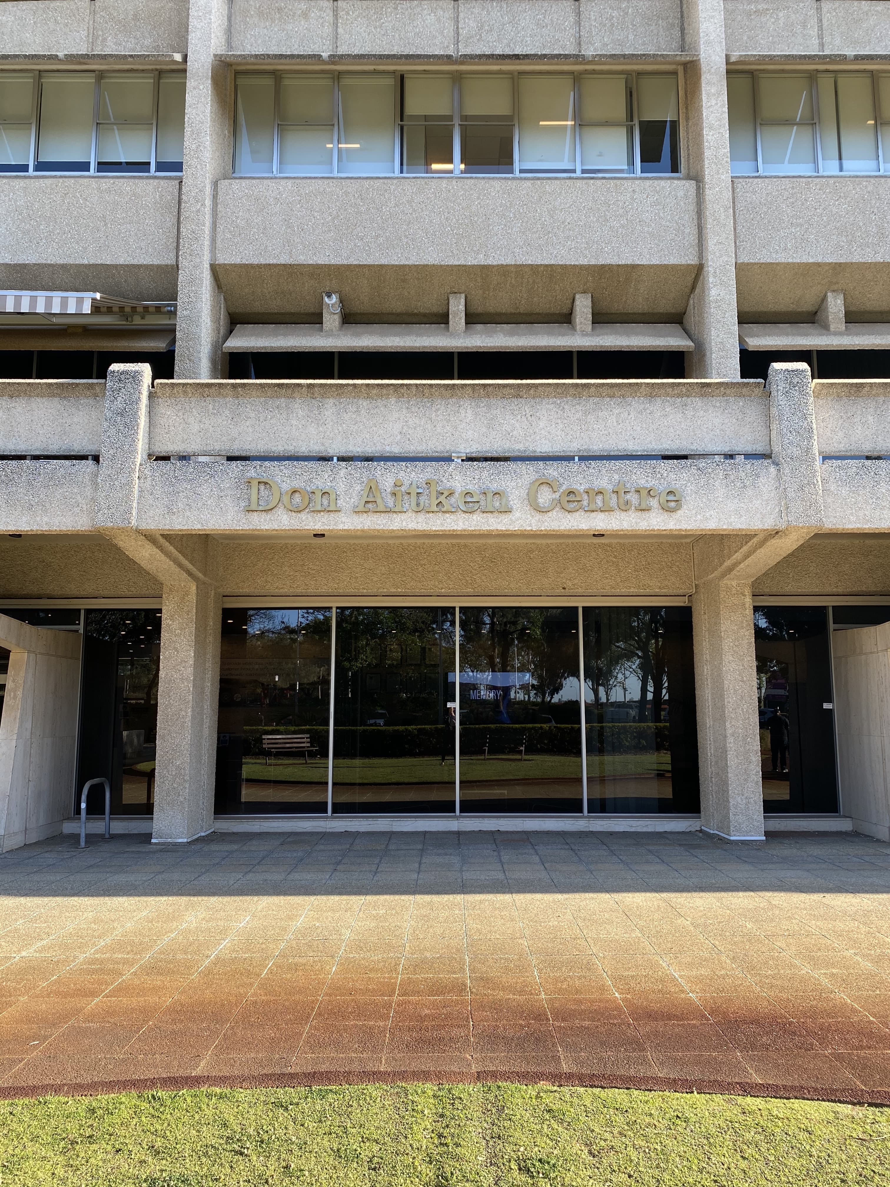
<instances>
[{"instance_id":1,"label":"slanted pale concrete wall at far left, beside metal hoop","mask_svg":"<svg viewBox=\"0 0 890 1187\"><path fill-rule=\"evenodd\" d=\"M0 851L62 832L71 815L81 635L0 614L9 650L0 719Z\"/></svg>"}]
</instances>

